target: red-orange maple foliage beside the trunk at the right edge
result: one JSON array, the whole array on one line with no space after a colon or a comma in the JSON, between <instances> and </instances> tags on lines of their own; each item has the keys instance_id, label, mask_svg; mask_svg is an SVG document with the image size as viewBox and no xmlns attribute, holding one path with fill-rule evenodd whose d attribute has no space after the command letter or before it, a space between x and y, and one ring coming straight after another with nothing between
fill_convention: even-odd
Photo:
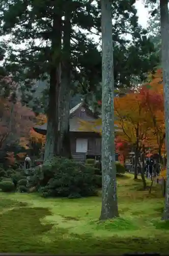
<instances>
[{"instance_id":1,"label":"red-orange maple foliage beside the trunk at the right edge","mask_svg":"<svg viewBox=\"0 0 169 256\"><path fill-rule=\"evenodd\" d=\"M152 153L158 153L159 162L161 154L165 152L165 117L162 70L148 76L148 82L140 90L142 104L149 112L152 121L151 129L147 134L147 143Z\"/></svg>"}]
</instances>

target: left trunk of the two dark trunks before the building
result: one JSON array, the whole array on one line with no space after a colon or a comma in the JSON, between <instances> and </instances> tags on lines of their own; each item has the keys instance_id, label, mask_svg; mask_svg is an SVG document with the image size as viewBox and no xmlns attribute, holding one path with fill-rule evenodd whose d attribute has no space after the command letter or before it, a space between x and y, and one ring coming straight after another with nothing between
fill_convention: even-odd
<instances>
[{"instance_id":1,"label":"left trunk of the two dark trunks before the building","mask_svg":"<svg viewBox=\"0 0 169 256\"><path fill-rule=\"evenodd\" d=\"M62 39L62 13L59 13L58 3L55 3L55 16L53 17L53 38L51 42L50 57L50 87L47 112L47 133L44 162L60 154L59 145L59 97L61 84L61 39Z\"/></svg>"}]
</instances>

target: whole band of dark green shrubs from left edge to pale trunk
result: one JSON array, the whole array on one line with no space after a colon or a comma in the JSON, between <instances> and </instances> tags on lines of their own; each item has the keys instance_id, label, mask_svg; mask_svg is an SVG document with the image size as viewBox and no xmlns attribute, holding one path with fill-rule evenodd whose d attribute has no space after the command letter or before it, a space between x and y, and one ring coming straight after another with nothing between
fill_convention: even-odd
<instances>
[{"instance_id":1,"label":"whole band of dark green shrubs from left edge to pale trunk","mask_svg":"<svg viewBox=\"0 0 169 256\"><path fill-rule=\"evenodd\" d=\"M96 168L66 158L54 158L45 165L23 170L1 170L3 191L38 191L43 197L89 197L97 195L101 176Z\"/></svg>"}]
</instances>

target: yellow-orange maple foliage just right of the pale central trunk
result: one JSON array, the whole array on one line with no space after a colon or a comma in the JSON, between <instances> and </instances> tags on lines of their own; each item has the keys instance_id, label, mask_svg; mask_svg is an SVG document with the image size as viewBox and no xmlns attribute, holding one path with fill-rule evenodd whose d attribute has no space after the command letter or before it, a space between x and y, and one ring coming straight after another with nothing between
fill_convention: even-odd
<instances>
[{"instance_id":1,"label":"yellow-orange maple foliage just right of the pale central trunk","mask_svg":"<svg viewBox=\"0 0 169 256\"><path fill-rule=\"evenodd\" d=\"M122 140L142 146L149 127L150 114L142 104L139 92L131 92L123 97L115 98L115 123L119 127L118 136Z\"/></svg>"}]
</instances>

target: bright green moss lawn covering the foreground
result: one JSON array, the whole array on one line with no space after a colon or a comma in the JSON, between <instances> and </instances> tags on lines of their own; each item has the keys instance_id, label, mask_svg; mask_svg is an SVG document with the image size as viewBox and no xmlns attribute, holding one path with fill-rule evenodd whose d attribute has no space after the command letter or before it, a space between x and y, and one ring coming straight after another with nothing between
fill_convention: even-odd
<instances>
[{"instance_id":1,"label":"bright green moss lawn covering the foreground","mask_svg":"<svg viewBox=\"0 0 169 256\"><path fill-rule=\"evenodd\" d=\"M160 185L152 194L140 180L118 178L120 218L98 222L101 197L44 199L0 193L0 251L114 253L169 251L169 223L161 222Z\"/></svg>"}]
</instances>

